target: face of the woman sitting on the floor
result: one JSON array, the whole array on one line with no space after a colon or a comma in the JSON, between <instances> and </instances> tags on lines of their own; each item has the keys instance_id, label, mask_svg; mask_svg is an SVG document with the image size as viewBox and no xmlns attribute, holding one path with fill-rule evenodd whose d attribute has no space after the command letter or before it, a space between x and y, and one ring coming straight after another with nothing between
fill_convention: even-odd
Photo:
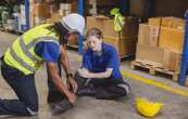
<instances>
[{"instance_id":1,"label":"face of the woman sitting on the floor","mask_svg":"<svg viewBox=\"0 0 188 119\"><path fill-rule=\"evenodd\" d=\"M101 51L102 40L98 39L96 36L89 36L87 38L87 45L92 51Z\"/></svg>"}]
</instances>

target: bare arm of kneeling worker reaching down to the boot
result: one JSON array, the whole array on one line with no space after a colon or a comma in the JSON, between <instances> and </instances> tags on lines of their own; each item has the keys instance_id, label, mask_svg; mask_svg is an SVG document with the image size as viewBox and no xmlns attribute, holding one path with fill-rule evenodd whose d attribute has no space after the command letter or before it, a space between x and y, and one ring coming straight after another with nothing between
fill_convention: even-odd
<instances>
[{"instance_id":1,"label":"bare arm of kneeling worker reaching down to the boot","mask_svg":"<svg viewBox=\"0 0 188 119\"><path fill-rule=\"evenodd\" d=\"M76 96L68 91L68 89L63 84L59 74L58 66L54 63L47 63L48 72L51 76L52 81L60 92L65 94L70 102L73 104L76 101Z\"/></svg>"}]
</instances>

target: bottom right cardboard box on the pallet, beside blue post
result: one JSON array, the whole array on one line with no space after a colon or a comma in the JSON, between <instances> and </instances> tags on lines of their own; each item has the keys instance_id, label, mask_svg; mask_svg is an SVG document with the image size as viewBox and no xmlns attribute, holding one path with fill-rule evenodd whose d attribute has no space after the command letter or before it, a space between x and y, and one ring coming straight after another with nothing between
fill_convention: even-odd
<instances>
[{"instance_id":1,"label":"bottom right cardboard box on the pallet, beside blue post","mask_svg":"<svg viewBox=\"0 0 188 119\"><path fill-rule=\"evenodd\" d=\"M179 71L181 62L181 53L173 52L170 49L164 49L163 68L173 71Z\"/></svg>"}]
</instances>

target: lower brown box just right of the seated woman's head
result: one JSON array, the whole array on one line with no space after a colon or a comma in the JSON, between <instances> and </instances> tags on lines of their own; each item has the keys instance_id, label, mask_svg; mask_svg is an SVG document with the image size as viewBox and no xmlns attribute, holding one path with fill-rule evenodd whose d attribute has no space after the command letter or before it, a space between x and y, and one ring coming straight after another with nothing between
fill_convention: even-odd
<instances>
[{"instance_id":1,"label":"lower brown box just right of the seated woman's head","mask_svg":"<svg viewBox=\"0 0 188 119\"><path fill-rule=\"evenodd\" d=\"M103 41L105 43L113 45L117 50L120 57L135 54L136 42L137 42L136 37L114 39L114 38L104 36Z\"/></svg>"}]
</instances>

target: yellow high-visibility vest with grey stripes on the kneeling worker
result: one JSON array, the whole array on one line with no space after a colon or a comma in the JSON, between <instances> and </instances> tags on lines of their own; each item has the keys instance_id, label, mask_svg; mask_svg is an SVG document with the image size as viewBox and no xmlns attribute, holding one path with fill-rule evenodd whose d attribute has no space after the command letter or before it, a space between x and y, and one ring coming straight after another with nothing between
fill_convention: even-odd
<instances>
[{"instance_id":1,"label":"yellow high-visibility vest with grey stripes on the kneeling worker","mask_svg":"<svg viewBox=\"0 0 188 119\"><path fill-rule=\"evenodd\" d=\"M57 34L47 28L51 25L39 25L15 39L4 54L4 62L25 75L34 74L43 63L43 60L35 53L35 45L41 41L59 44Z\"/></svg>"}]
</instances>

